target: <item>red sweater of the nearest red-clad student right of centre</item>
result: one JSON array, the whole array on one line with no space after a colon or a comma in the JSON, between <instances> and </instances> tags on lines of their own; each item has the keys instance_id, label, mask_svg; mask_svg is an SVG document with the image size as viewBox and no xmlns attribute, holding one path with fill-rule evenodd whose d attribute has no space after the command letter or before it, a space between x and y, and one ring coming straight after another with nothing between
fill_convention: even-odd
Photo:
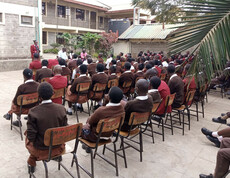
<instances>
[{"instance_id":1,"label":"red sweater of the nearest red-clad student right of centre","mask_svg":"<svg viewBox=\"0 0 230 178\"><path fill-rule=\"evenodd\" d=\"M158 87L158 91L161 95L162 101L161 101L160 107L157 110L157 114L162 115L164 114L164 111L165 111L165 99L166 99L166 96L170 95L170 89L168 85L164 81L161 80L161 84ZM171 112L171 111L172 111L172 108L171 106L169 106L167 112Z\"/></svg>"}]
</instances>

